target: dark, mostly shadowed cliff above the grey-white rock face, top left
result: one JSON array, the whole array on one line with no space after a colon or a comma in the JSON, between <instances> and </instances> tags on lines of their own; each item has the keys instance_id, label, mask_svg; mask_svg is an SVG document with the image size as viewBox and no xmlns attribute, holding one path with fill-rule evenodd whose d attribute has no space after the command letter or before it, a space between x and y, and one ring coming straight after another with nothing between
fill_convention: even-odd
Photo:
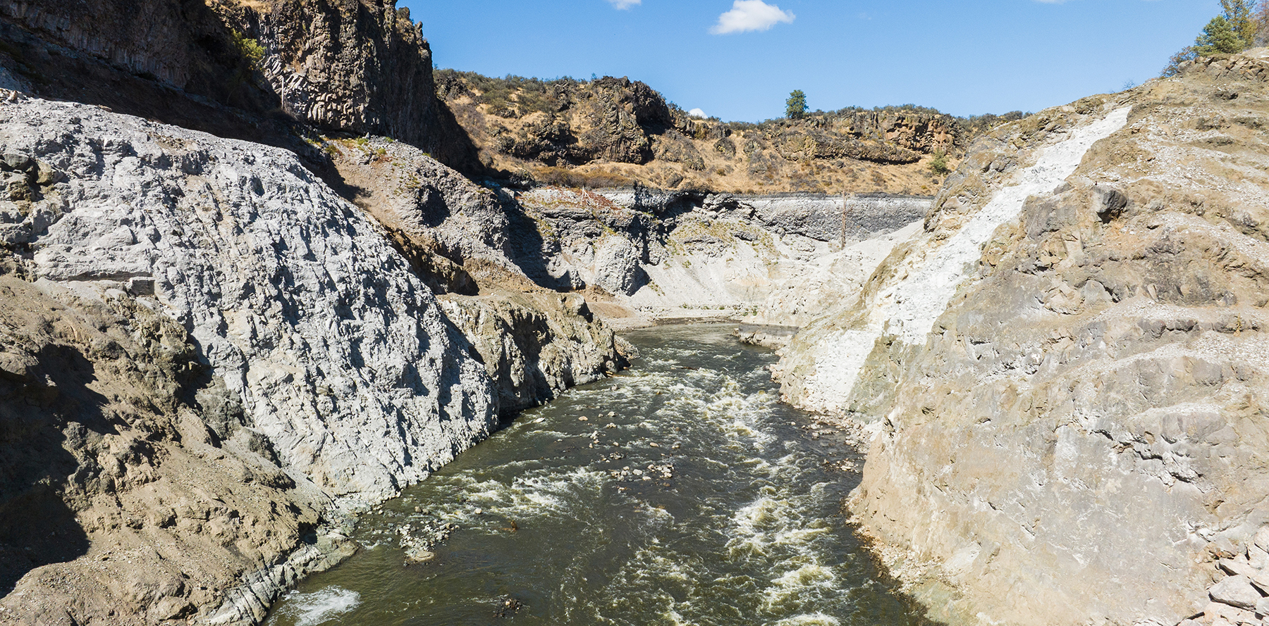
<instances>
[{"instance_id":1,"label":"dark, mostly shadowed cliff above the grey-white rock face, top left","mask_svg":"<svg viewBox=\"0 0 1269 626\"><path fill-rule=\"evenodd\" d=\"M297 152L297 134L381 134L480 165L395 1L6 0L0 33L3 87Z\"/></svg>"}]
</instances>

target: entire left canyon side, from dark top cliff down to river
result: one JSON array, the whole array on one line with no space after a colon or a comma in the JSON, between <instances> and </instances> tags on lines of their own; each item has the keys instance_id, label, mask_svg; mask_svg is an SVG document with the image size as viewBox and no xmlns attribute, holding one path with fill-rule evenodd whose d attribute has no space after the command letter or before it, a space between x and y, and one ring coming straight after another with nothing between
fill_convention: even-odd
<instances>
[{"instance_id":1,"label":"entire left canyon side, from dark top cliff down to river","mask_svg":"<svg viewBox=\"0 0 1269 626\"><path fill-rule=\"evenodd\" d=\"M500 207L416 147L462 162L391 5L0 5L10 86L294 151L4 91L3 621L256 621L346 554L349 507L622 366L513 264L514 302L433 295L463 274L411 220ZM343 180L334 131L410 139L414 203ZM509 232L477 222L444 250Z\"/></svg>"}]
</instances>

